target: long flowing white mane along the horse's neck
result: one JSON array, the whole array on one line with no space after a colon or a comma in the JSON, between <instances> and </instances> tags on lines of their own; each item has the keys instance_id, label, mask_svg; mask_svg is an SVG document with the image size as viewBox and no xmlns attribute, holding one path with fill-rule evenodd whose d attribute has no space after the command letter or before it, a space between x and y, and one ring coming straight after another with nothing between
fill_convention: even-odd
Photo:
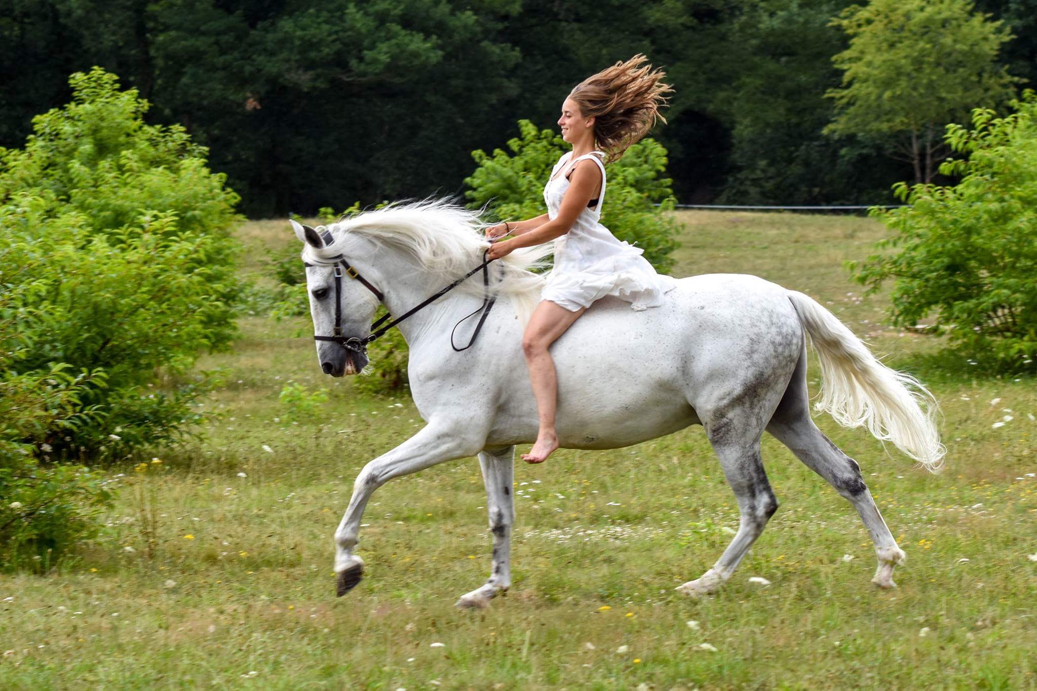
<instances>
[{"instance_id":1,"label":"long flowing white mane along the horse's neck","mask_svg":"<svg viewBox=\"0 0 1037 691\"><path fill-rule=\"evenodd\" d=\"M357 234L402 250L419 266L441 273L446 285L482 262L486 246L482 230L487 225L481 211L444 199L394 203L331 224L331 244L320 250L307 244L303 257L331 259L342 254L349 234ZM499 295L510 297L523 324L539 301L543 286L543 278L529 269L546 264L553 244L522 248L489 265L491 286ZM504 266L503 278L499 266ZM481 295L482 281L472 277L456 290Z\"/></svg>"}]
</instances>

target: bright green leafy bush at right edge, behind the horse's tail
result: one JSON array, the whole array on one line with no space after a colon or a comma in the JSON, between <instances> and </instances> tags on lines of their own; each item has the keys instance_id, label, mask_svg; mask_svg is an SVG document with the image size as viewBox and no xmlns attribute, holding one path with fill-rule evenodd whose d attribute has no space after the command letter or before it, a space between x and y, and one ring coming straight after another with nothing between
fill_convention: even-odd
<instances>
[{"instance_id":1,"label":"bright green leafy bush at right edge, behind the horse's tail","mask_svg":"<svg viewBox=\"0 0 1037 691\"><path fill-rule=\"evenodd\" d=\"M890 252L864 262L857 279L876 290L892 279L893 323L932 317L951 344L977 359L1034 369L1037 355L1037 95L996 117L973 111L973 128L949 125L952 186L900 183L910 206L872 215L896 234Z\"/></svg>"}]
</instances>

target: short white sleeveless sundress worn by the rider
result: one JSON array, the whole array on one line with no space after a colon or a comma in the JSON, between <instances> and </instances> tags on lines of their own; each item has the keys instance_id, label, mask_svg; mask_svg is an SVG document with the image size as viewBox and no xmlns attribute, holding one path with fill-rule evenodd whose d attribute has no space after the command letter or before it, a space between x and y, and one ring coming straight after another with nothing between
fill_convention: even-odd
<instances>
[{"instance_id":1,"label":"short white sleeveless sundress worn by the rider","mask_svg":"<svg viewBox=\"0 0 1037 691\"><path fill-rule=\"evenodd\" d=\"M615 295L630 303L635 310L658 307L663 296L677 287L672 276L656 273L655 268L642 257L644 250L616 238L599 223L601 204L605 202L605 165L594 151L580 156L590 159L601 169L601 194L597 203L580 212L569 231L555 240L555 267L548 275L546 285L540 299L551 300L576 312L590 307L594 300L606 295ZM555 164L551 179L543 188L543 201L548 205L548 217L558 215L562 198L569 188L566 175L569 170L559 171L569 163L569 151ZM594 200L591 200L594 201Z\"/></svg>"}]
</instances>

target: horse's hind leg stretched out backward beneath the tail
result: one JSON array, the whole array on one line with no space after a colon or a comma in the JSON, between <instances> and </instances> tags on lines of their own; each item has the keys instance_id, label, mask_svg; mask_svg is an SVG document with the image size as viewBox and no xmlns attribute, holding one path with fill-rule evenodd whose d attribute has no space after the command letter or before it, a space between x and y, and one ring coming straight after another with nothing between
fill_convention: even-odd
<instances>
[{"instance_id":1,"label":"horse's hind leg stretched out backward beneath the tail","mask_svg":"<svg viewBox=\"0 0 1037 691\"><path fill-rule=\"evenodd\" d=\"M832 443L810 419L806 372L807 358L804 351L788 390L767 425L767 431L853 505L871 535L875 555L878 557L878 569L871 582L879 587L895 587L893 568L903 563L903 550L897 546L890 528L878 513L878 507L861 477L861 466Z\"/></svg>"}]
</instances>

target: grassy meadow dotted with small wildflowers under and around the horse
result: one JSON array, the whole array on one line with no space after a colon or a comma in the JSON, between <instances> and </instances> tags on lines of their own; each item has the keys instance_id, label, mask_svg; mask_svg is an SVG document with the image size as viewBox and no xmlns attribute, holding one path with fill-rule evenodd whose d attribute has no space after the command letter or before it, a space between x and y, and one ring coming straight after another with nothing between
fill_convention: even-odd
<instances>
[{"instance_id":1,"label":"grassy meadow dotted with small wildflowers under and around the horse","mask_svg":"<svg viewBox=\"0 0 1037 691\"><path fill-rule=\"evenodd\" d=\"M933 355L931 337L884 326L881 296L862 297L842 268L880 237L872 221L680 218L674 275L750 272L808 292L931 384L949 449L940 476L817 421L861 463L907 552L899 588L870 585L871 543L851 507L767 437L782 505L767 530L721 593L674 593L737 525L693 428L520 462L514 581L482 611L453 607L488 571L478 463L393 481L365 516L367 577L336 599L332 534L353 479L421 421L405 397L324 377L307 319L256 316L242 320L233 353L201 364L225 381L204 404L219 416L203 440L113 468L124 487L102 538L47 576L0 581L0 687L1037 686L1034 381L993 378ZM281 222L241 236L250 273L264 249L296 241ZM327 387L329 401L291 422L278 400L288 381Z\"/></svg>"}]
</instances>

